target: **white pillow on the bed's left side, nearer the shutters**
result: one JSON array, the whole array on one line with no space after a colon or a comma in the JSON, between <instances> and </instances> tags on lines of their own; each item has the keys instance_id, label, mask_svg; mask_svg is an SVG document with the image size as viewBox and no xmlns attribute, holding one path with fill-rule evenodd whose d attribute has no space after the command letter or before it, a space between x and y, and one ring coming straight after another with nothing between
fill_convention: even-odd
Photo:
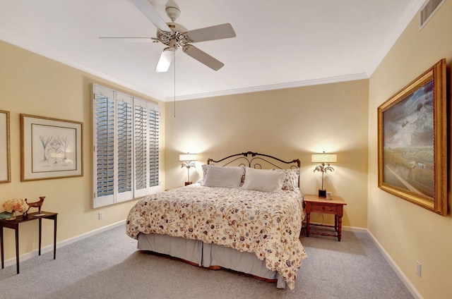
<instances>
[{"instance_id":1,"label":"white pillow on the bed's left side, nearer the shutters","mask_svg":"<svg viewBox=\"0 0 452 299\"><path fill-rule=\"evenodd\" d=\"M208 166L203 185L207 187L239 187L244 174L243 167Z\"/></svg>"}]
</instances>

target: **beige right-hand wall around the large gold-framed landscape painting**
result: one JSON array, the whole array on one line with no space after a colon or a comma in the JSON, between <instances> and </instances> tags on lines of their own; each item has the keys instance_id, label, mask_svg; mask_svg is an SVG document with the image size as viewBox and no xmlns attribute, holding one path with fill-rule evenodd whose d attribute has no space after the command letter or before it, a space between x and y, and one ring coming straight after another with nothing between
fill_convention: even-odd
<instances>
[{"instance_id":1,"label":"beige right-hand wall around the large gold-framed landscape painting","mask_svg":"<svg viewBox=\"0 0 452 299\"><path fill-rule=\"evenodd\" d=\"M419 31L417 16L371 75L369 83L369 231L423 298L452 298L452 217L439 216L377 188L376 109L430 66L446 58L448 128L451 126L452 1ZM449 149L451 133L448 133ZM450 150L449 150L450 152ZM448 155L448 185L451 186ZM416 261L422 276L416 275Z\"/></svg>"}]
</instances>

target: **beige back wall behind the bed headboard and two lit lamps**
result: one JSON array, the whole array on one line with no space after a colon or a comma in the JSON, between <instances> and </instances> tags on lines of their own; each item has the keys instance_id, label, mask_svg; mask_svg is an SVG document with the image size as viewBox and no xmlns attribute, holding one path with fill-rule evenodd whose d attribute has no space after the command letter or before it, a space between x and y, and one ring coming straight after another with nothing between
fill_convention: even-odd
<instances>
[{"instance_id":1,"label":"beige back wall behind the bed headboard and two lit lamps","mask_svg":"<svg viewBox=\"0 0 452 299\"><path fill-rule=\"evenodd\" d=\"M253 151L285 160L299 158L300 188L316 193L320 173L311 154L335 152L338 163L328 172L326 188L347 202L343 224L367 227L367 100L368 80L236 94L166 103L167 188L186 181L178 154L198 153L201 164L210 157ZM314 215L313 215L314 216ZM325 221L333 221L331 215ZM319 215L314 221L321 221Z\"/></svg>"}]
</instances>

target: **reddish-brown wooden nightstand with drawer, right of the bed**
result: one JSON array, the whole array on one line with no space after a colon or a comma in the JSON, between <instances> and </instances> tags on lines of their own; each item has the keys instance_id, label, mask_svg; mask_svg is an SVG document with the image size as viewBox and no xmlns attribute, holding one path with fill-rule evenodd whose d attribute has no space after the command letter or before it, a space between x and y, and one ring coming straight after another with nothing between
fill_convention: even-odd
<instances>
[{"instance_id":1,"label":"reddish-brown wooden nightstand with drawer, right of the bed","mask_svg":"<svg viewBox=\"0 0 452 299\"><path fill-rule=\"evenodd\" d=\"M325 197L319 197L317 195L304 195L303 207L306 212L306 236L309 237L309 233L312 233L313 235L333 236L338 237L338 240L340 241L342 236L343 207L345 205L347 205L347 203L339 196L333 196L330 200L327 200ZM311 232L311 212L334 214L334 226L326 224L317 224L317 226L334 227L336 233Z\"/></svg>"}]
</instances>

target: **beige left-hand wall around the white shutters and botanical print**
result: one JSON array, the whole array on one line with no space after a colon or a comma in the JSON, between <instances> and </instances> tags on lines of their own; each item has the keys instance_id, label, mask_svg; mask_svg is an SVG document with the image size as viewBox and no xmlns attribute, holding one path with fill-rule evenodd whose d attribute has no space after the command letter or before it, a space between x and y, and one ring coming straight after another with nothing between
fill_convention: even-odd
<instances>
[{"instance_id":1,"label":"beige left-hand wall around the white shutters and botanical print","mask_svg":"<svg viewBox=\"0 0 452 299\"><path fill-rule=\"evenodd\" d=\"M39 196L45 196L44 211L59 213L58 242L124 220L133 201L93 209L91 84L104 85L141 99L152 99L1 41L0 66L0 110L10 111L11 117L11 183L0 184L0 210L3 210L1 204L10 198L22 197L35 202ZM165 107L160 106L165 114ZM84 175L20 182L19 114L83 122ZM102 220L97 217L100 211L104 212ZM42 223L44 247L52 244L53 223L45 220ZM14 234L11 229L4 232L5 259L8 260L15 257ZM20 224L20 255L36 249L37 221Z\"/></svg>"}]
</instances>

